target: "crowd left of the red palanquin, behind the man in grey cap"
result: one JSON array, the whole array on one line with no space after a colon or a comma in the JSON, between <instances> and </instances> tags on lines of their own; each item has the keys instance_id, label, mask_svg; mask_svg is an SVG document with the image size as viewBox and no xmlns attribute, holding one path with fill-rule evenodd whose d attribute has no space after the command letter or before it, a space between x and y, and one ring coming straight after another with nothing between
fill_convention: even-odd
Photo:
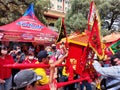
<instances>
[{"instance_id":1,"label":"crowd left of the red palanquin, behind the man in grey cap","mask_svg":"<svg viewBox=\"0 0 120 90\"><path fill-rule=\"evenodd\" d=\"M57 78L56 65L60 64L68 55L64 46L60 49L56 48L55 44L46 46L44 49L37 51L38 48L32 46L21 48L17 45L13 49L5 45L0 47L0 90L10 90L11 87L16 89L16 80L14 76L21 71L20 69L4 68L5 64L41 64L50 65L50 68L31 68L37 75L42 78L37 82L37 85L46 85L52 83ZM23 76L24 77L24 76ZM23 85L22 85L23 88ZM20 89L23 90L23 89Z\"/></svg>"}]
</instances>

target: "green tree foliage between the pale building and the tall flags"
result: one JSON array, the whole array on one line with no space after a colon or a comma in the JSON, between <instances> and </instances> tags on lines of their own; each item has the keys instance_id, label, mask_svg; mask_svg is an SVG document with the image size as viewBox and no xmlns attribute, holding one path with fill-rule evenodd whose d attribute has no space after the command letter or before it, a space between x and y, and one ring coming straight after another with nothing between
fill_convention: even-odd
<instances>
[{"instance_id":1,"label":"green tree foliage between the pale building and the tall flags","mask_svg":"<svg viewBox=\"0 0 120 90\"><path fill-rule=\"evenodd\" d=\"M83 32L87 24L87 16L89 12L88 0L71 0L71 9L68 10L65 23L67 31Z\"/></svg>"}]
</instances>

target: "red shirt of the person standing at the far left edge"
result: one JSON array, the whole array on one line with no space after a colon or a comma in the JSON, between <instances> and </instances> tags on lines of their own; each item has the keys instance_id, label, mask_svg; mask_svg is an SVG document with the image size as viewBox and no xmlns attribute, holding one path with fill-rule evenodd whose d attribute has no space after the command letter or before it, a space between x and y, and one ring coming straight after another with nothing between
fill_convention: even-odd
<instances>
[{"instance_id":1,"label":"red shirt of the person standing at the far left edge","mask_svg":"<svg viewBox=\"0 0 120 90\"><path fill-rule=\"evenodd\" d=\"M6 79L11 76L11 68L5 68L3 65L13 63L14 60L10 55L5 56L5 59L0 58L0 79Z\"/></svg>"}]
</instances>

